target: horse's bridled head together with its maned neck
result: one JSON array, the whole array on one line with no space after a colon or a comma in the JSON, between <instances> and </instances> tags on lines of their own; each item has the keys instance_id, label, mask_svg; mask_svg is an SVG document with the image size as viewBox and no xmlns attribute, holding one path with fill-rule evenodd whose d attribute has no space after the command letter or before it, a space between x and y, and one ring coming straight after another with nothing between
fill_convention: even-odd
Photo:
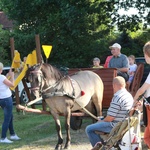
<instances>
[{"instance_id":1,"label":"horse's bridled head together with its maned neck","mask_svg":"<svg viewBox=\"0 0 150 150\"><path fill-rule=\"evenodd\" d=\"M44 91L59 81L63 75L50 64L36 64L28 67L26 81L31 84L31 95L39 98Z\"/></svg>"}]
</instances>

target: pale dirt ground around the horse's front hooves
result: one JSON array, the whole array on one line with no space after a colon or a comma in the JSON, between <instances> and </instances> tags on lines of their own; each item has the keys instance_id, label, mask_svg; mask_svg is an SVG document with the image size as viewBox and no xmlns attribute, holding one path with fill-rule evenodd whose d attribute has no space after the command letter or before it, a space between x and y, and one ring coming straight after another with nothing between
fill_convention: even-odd
<instances>
[{"instance_id":1,"label":"pale dirt ground around the horse's front hooves","mask_svg":"<svg viewBox=\"0 0 150 150\"><path fill-rule=\"evenodd\" d=\"M70 150L91 150L91 145L85 134L86 123L82 125L80 130L71 130L71 149ZM144 129L141 128L141 133L143 136ZM65 139L65 133L63 133ZM46 139L30 143L30 145L24 145L23 147L13 149L13 150L54 150L55 144L57 142L57 135L51 136ZM64 141L65 142L65 141ZM147 150L144 143L142 142L142 150Z\"/></svg>"}]
</instances>

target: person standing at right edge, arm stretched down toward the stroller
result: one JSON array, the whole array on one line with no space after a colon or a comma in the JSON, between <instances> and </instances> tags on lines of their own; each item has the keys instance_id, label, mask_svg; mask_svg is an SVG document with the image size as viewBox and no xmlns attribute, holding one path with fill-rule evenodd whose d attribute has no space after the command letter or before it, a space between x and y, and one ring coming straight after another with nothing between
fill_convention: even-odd
<instances>
[{"instance_id":1,"label":"person standing at right edge, arm stretched down toward the stroller","mask_svg":"<svg viewBox=\"0 0 150 150\"><path fill-rule=\"evenodd\" d=\"M143 47L144 57L146 63L150 64L150 41L147 42ZM145 93L145 94L144 94ZM137 103L137 99L140 95L144 94L145 98L147 99L148 103L150 104L150 73L145 81L145 83L138 89L137 93L134 96L135 103ZM148 123L146 123L146 128L144 131L144 142L150 148L150 105L146 105L147 114L144 113L143 108L143 117L146 117Z\"/></svg>"}]
</instances>

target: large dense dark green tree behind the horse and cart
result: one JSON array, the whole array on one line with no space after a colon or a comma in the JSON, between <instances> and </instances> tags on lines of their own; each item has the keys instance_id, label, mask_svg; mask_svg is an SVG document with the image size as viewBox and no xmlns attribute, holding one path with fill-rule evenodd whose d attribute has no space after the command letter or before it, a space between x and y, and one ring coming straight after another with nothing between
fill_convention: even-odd
<instances>
[{"instance_id":1,"label":"large dense dark green tree behind the horse and cart","mask_svg":"<svg viewBox=\"0 0 150 150\"><path fill-rule=\"evenodd\" d=\"M95 40L106 37L112 30L109 11L105 12L111 5L102 0L2 0L1 3L19 27L14 36L33 37L39 33L42 44L53 45L50 60L55 64L85 66L92 57L99 55L91 49ZM23 41L19 45L26 49Z\"/></svg>"}]
</instances>

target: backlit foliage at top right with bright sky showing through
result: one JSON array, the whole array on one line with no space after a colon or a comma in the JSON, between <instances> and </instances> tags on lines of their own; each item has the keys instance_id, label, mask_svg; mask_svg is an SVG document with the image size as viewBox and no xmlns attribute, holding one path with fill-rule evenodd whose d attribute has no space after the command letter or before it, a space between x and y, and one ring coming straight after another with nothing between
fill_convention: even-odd
<instances>
[{"instance_id":1,"label":"backlit foliage at top right with bright sky showing through","mask_svg":"<svg viewBox=\"0 0 150 150\"><path fill-rule=\"evenodd\" d=\"M137 31L141 29L141 23L143 23L143 29L148 27L150 23L150 4L148 0L112 0L111 2L115 3L112 21L117 24L119 31ZM131 15L118 14L119 9L129 11L130 8L135 8L138 13Z\"/></svg>"}]
</instances>

